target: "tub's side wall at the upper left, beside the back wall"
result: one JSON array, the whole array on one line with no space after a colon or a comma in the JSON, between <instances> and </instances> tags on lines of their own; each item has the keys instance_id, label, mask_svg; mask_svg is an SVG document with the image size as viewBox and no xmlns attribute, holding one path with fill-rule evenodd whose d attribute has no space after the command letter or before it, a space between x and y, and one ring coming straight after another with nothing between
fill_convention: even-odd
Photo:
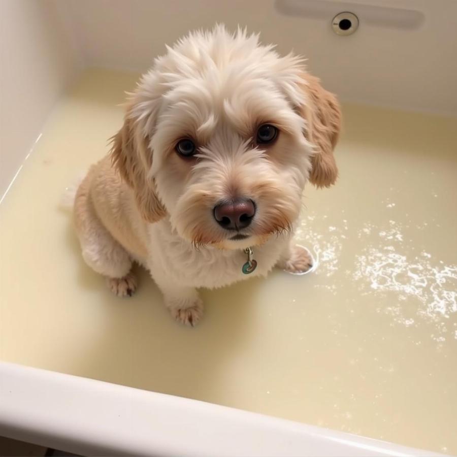
<instances>
[{"instance_id":1,"label":"tub's side wall at the upper left, beside the back wall","mask_svg":"<svg viewBox=\"0 0 457 457\"><path fill-rule=\"evenodd\" d=\"M48 0L0 2L0 198L81 59Z\"/></svg>"}]
</instances>

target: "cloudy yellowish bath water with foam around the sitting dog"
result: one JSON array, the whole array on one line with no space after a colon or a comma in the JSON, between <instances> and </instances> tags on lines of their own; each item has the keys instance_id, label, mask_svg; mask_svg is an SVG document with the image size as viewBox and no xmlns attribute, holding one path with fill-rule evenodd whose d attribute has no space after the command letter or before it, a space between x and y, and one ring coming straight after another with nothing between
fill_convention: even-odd
<instances>
[{"instance_id":1,"label":"cloudy yellowish bath water with foam around the sitting dog","mask_svg":"<svg viewBox=\"0 0 457 457\"><path fill-rule=\"evenodd\" d=\"M137 76L87 72L0 205L1 360L457 453L455 119L344 105L297 233L316 270L205 290L189 329L143 270L114 297L60 205Z\"/></svg>"}]
</instances>

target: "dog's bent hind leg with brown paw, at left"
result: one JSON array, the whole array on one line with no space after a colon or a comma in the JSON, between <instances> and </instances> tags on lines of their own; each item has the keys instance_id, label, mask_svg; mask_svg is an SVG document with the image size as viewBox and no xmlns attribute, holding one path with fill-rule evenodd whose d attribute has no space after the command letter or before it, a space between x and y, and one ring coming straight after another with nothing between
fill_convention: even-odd
<instances>
[{"instance_id":1,"label":"dog's bent hind leg with brown paw, at left","mask_svg":"<svg viewBox=\"0 0 457 457\"><path fill-rule=\"evenodd\" d=\"M75 223L85 263L106 276L108 287L115 295L132 296L137 287L136 278L130 272L132 259L111 236L83 194L77 196L75 202Z\"/></svg>"}]
</instances>

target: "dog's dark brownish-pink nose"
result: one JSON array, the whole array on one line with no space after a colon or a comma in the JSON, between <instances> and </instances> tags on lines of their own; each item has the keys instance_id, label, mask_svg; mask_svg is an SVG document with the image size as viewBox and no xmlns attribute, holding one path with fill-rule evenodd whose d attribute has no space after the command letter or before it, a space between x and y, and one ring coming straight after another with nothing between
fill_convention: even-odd
<instances>
[{"instance_id":1,"label":"dog's dark brownish-pink nose","mask_svg":"<svg viewBox=\"0 0 457 457\"><path fill-rule=\"evenodd\" d=\"M227 230L246 228L255 214L255 205L249 199L235 199L214 207L214 219Z\"/></svg>"}]
</instances>

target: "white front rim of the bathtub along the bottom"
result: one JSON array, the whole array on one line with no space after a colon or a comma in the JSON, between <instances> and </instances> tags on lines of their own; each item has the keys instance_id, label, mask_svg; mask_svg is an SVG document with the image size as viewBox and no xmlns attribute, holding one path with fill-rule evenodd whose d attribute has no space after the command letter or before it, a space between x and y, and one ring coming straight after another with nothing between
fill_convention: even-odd
<instances>
[{"instance_id":1,"label":"white front rim of the bathtub along the bottom","mask_svg":"<svg viewBox=\"0 0 457 457\"><path fill-rule=\"evenodd\" d=\"M0 404L0 434L82 455L439 455L6 363L0 363Z\"/></svg>"}]
</instances>

